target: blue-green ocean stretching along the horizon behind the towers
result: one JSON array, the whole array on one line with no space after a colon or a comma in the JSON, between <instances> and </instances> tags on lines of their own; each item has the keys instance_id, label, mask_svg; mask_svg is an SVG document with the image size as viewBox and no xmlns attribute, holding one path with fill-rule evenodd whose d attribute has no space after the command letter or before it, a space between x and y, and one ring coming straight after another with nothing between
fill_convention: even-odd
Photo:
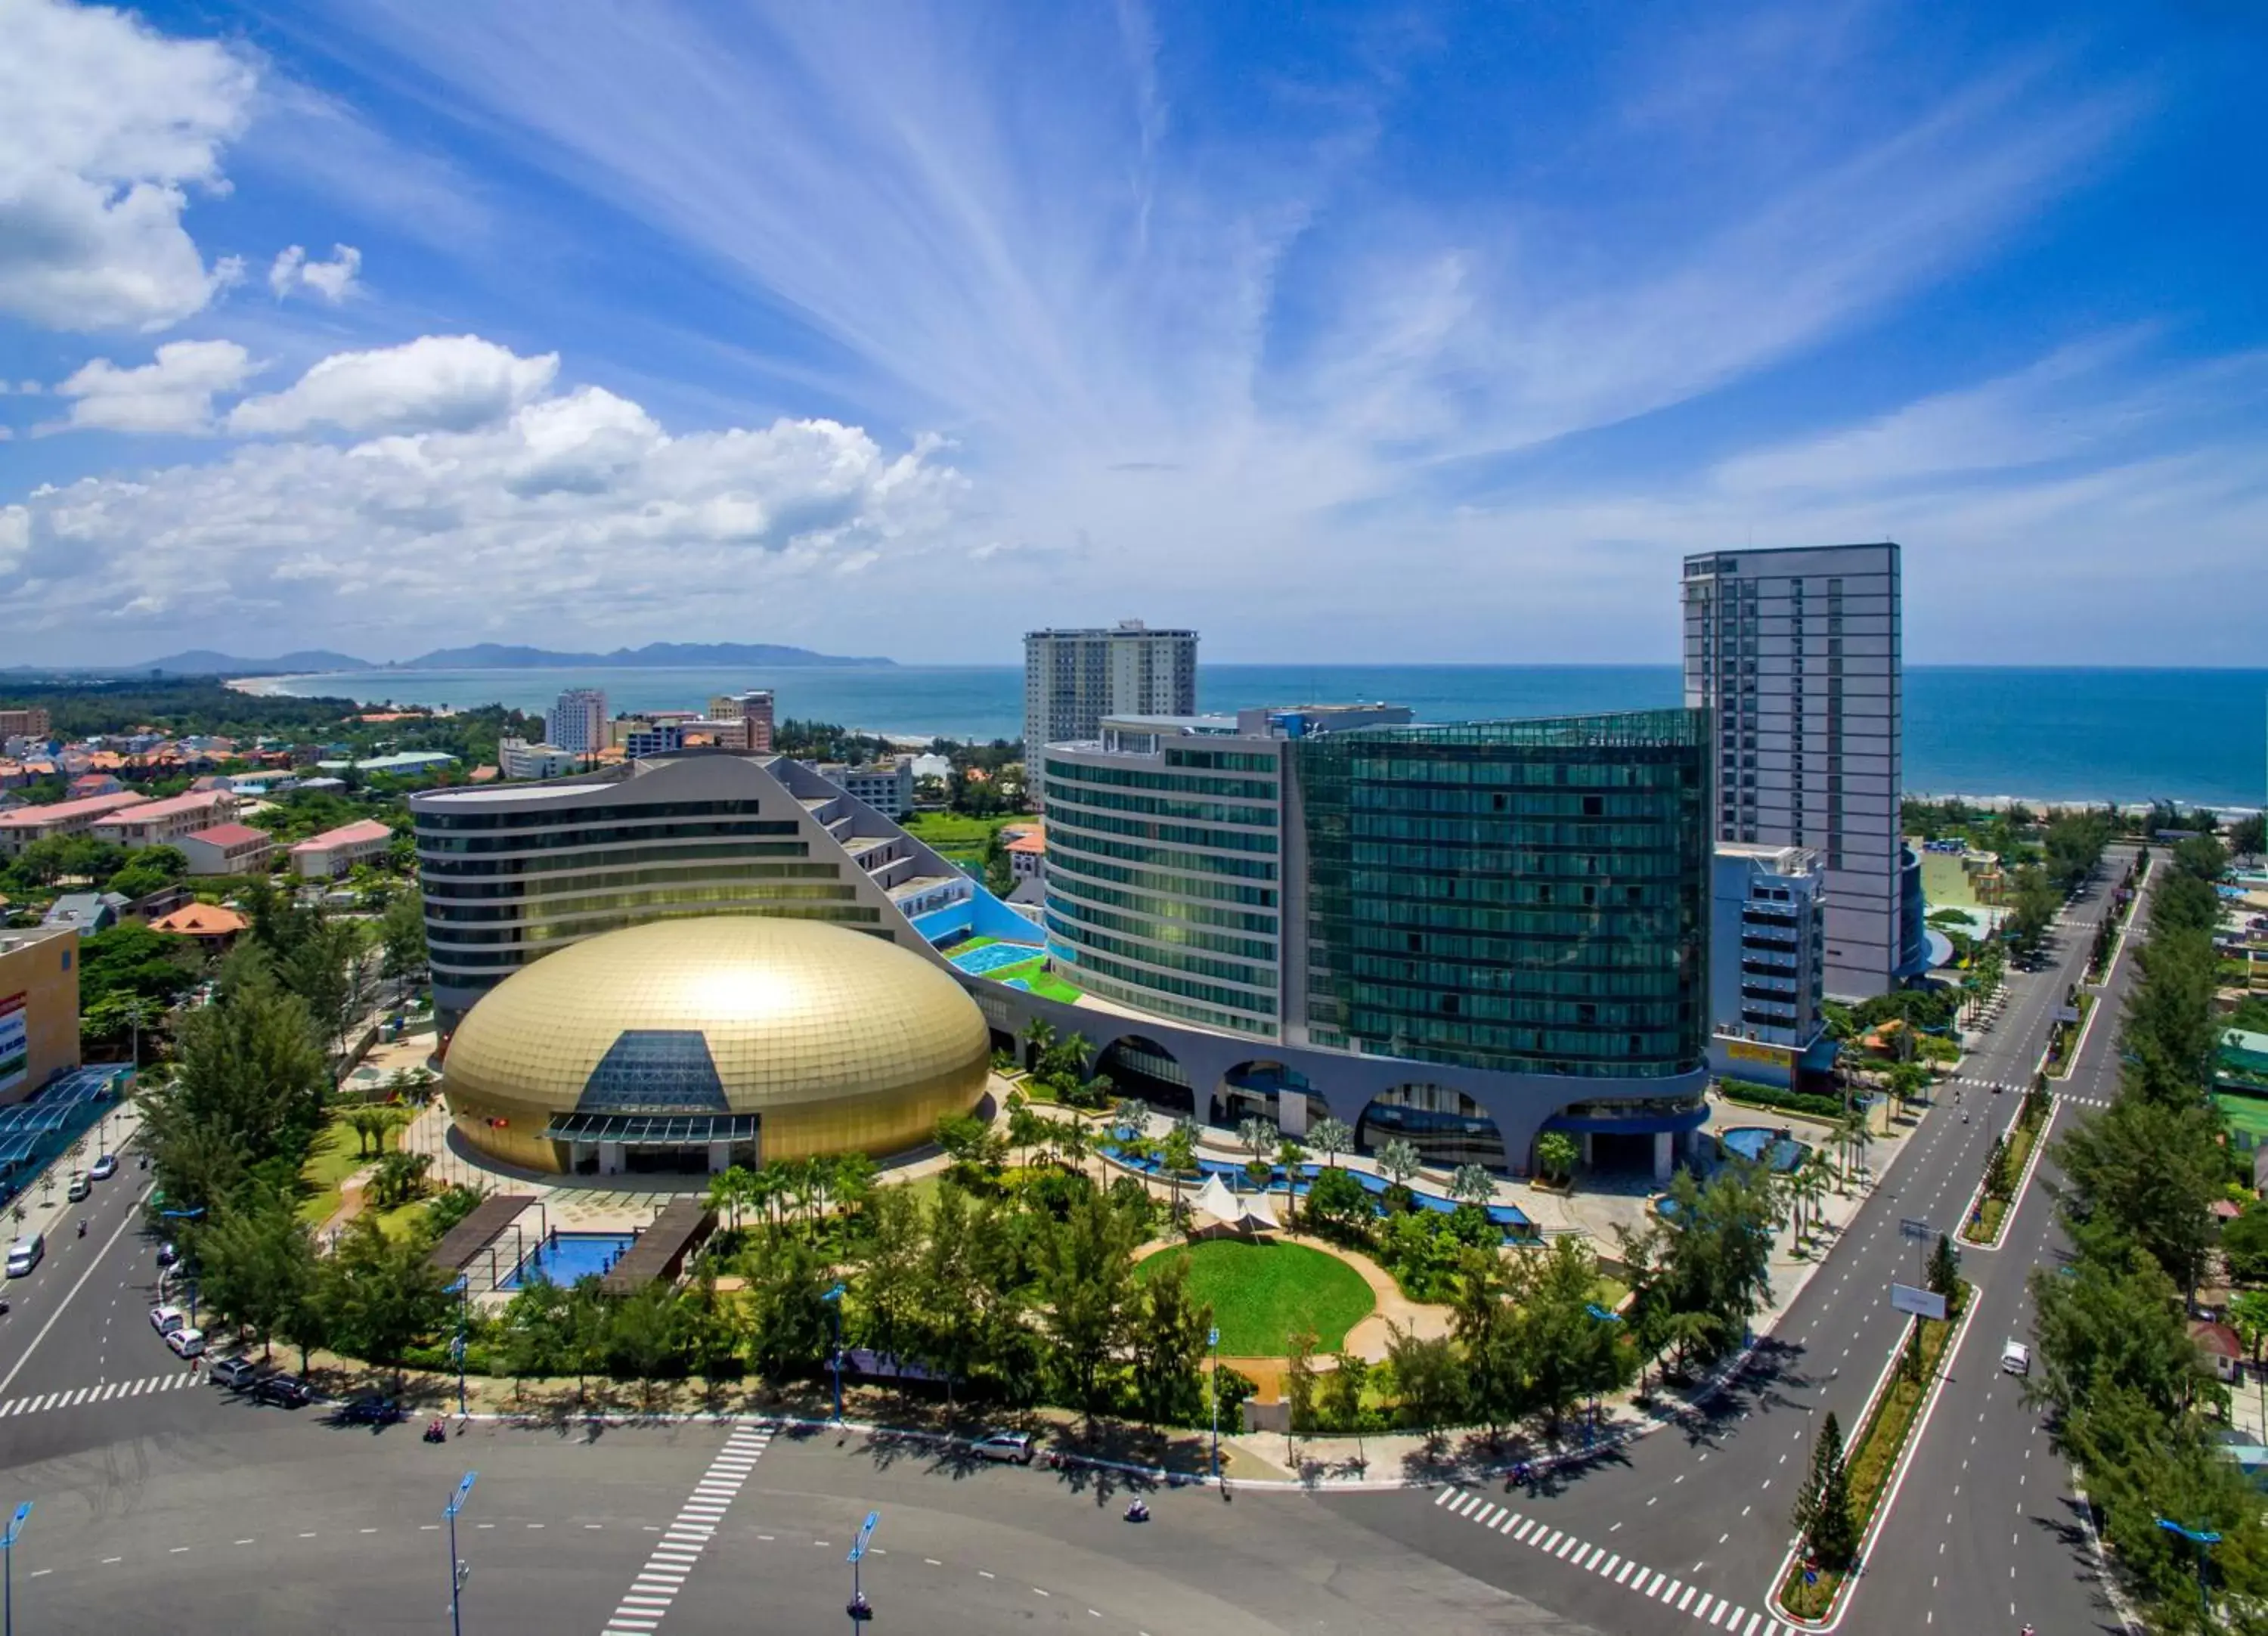
<instances>
[{"instance_id":1,"label":"blue-green ocean stretching along the horizon behind the towers","mask_svg":"<svg viewBox=\"0 0 2268 1636\"><path fill-rule=\"evenodd\" d=\"M701 708L771 688L782 717L866 733L1016 737L1012 665L782 669L374 669L259 683L361 703L544 710L562 688L603 688L610 710ZM1681 699L1674 665L1204 665L1200 710L1266 703L1406 703L1420 722L1642 710ZM2268 672L2019 669L1905 672L1905 787L2032 801L2157 801L2257 808L2268 783Z\"/></svg>"}]
</instances>

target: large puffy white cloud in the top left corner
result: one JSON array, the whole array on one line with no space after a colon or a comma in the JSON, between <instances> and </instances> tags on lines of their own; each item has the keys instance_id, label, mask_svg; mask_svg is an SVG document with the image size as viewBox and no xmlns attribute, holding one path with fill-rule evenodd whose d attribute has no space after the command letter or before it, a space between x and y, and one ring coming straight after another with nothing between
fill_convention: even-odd
<instances>
[{"instance_id":1,"label":"large puffy white cloud in the top left corner","mask_svg":"<svg viewBox=\"0 0 2268 1636\"><path fill-rule=\"evenodd\" d=\"M188 191L225 191L252 66L125 11L0 0L0 311L48 329L163 329L243 275L206 265Z\"/></svg>"}]
</instances>

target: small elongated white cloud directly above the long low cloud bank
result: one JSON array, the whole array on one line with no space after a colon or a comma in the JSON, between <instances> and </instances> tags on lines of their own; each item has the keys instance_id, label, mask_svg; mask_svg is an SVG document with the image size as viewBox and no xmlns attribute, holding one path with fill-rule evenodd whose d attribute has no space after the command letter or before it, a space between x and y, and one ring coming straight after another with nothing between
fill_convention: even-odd
<instances>
[{"instance_id":1,"label":"small elongated white cloud directly above the long low cloud bank","mask_svg":"<svg viewBox=\"0 0 2268 1636\"><path fill-rule=\"evenodd\" d=\"M238 404L229 431L469 431L533 402L558 368L556 352L522 359L479 336L420 336L376 352L333 352L295 386Z\"/></svg>"}]
</instances>

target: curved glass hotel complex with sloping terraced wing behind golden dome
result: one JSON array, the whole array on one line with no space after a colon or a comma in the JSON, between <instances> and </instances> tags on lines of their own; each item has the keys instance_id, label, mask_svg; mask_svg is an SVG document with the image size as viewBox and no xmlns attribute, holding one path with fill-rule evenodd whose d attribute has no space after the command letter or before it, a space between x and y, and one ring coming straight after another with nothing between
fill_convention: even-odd
<instances>
[{"instance_id":1,"label":"curved glass hotel complex with sloping terraced wing behind golden dome","mask_svg":"<svg viewBox=\"0 0 2268 1636\"><path fill-rule=\"evenodd\" d=\"M1127 1094L1529 1171L1565 1130L1667 1175L1706 1121L1699 710L1420 726L1388 706L1105 717L1046 744L1034 924L816 769L689 751L411 799L445 1032L619 926L787 914L948 969L996 1048Z\"/></svg>"}]
</instances>

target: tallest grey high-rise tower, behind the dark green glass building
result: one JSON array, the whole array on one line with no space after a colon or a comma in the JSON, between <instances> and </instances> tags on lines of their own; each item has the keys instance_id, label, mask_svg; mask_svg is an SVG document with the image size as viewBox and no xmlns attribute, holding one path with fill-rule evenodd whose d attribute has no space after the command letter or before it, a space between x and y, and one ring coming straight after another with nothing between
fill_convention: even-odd
<instances>
[{"instance_id":1,"label":"tallest grey high-rise tower, behind the dark green glass building","mask_svg":"<svg viewBox=\"0 0 2268 1636\"><path fill-rule=\"evenodd\" d=\"M1887 992L1910 946L1898 547L1703 551L1685 558L1683 594L1685 703L1708 712L1717 840L1817 851L1826 992Z\"/></svg>"}]
</instances>

